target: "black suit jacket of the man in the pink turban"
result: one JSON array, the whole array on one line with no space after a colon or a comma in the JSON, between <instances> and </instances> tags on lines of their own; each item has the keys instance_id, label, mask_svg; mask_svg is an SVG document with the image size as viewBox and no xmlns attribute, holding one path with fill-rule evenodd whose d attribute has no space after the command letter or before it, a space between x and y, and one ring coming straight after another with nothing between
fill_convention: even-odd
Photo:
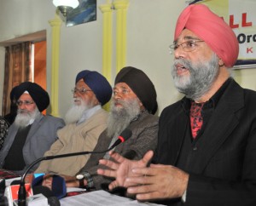
<instances>
[{"instance_id":1,"label":"black suit jacket of the man in the pink turban","mask_svg":"<svg viewBox=\"0 0 256 206\"><path fill-rule=\"evenodd\" d=\"M160 116L157 163L177 165L188 129L183 101L166 107ZM184 205L256 205L256 92L232 79L199 142L189 156Z\"/></svg>"}]
</instances>

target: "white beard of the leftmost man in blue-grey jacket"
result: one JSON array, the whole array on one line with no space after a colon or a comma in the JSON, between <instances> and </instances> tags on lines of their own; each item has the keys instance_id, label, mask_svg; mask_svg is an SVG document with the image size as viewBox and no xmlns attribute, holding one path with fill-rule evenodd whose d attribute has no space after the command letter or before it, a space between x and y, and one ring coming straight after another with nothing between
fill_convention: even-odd
<instances>
[{"instance_id":1,"label":"white beard of the leftmost man in blue-grey jacket","mask_svg":"<svg viewBox=\"0 0 256 206\"><path fill-rule=\"evenodd\" d=\"M35 119L40 112L38 107L33 112L29 112L26 109L18 109L17 116L15 117L15 125L19 128L25 128L32 119Z\"/></svg>"}]
</instances>

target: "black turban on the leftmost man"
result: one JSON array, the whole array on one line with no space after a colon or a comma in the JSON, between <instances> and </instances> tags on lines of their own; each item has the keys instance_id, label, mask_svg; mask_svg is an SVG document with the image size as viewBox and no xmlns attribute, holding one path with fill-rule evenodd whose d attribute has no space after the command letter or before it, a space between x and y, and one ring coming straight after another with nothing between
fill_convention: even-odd
<instances>
[{"instance_id":1,"label":"black turban on the leftmost man","mask_svg":"<svg viewBox=\"0 0 256 206\"><path fill-rule=\"evenodd\" d=\"M20 85L15 88L16 100L19 100L21 94L25 91L31 95L32 100L36 103L40 112L44 111L49 106L49 94L37 83L20 83Z\"/></svg>"}]
</instances>

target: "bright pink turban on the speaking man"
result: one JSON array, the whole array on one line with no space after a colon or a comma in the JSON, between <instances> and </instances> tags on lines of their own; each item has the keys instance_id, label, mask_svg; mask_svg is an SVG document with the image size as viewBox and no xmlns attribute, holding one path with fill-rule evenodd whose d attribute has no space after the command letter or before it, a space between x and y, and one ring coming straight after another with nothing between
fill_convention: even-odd
<instances>
[{"instance_id":1,"label":"bright pink turban on the speaking man","mask_svg":"<svg viewBox=\"0 0 256 206\"><path fill-rule=\"evenodd\" d=\"M238 41L234 31L222 18L212 13L206 5L192 4L179 15L174 39L184 28L194 32L224 61L224 65L232 67L236 64L239 53Z\"/></svg>"}]
</instances>

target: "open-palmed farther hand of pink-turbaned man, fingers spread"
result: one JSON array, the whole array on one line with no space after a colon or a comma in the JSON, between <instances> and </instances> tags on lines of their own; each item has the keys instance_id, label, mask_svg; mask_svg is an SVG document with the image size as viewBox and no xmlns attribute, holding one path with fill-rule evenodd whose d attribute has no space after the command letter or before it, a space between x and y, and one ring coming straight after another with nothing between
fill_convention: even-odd
<instances>
[{"instance_id":1,"label":"open-palmed farther hand of pink-turbaned man, fingers spread","mask_svg":"<svg viewBox=\"0 0 256 206\"><path fill-rule=\"evenodd\" d=\"M109 169L98 169L98 175L105 175L108 177L114 177L115 180L111 182L108 186L110 190L117 186L131 186L131 182L126 182L126 177L138 176L131 172L131 169L134 168L146 168L149 160L153 157L153 152L147 152L143 159L139 161L129 160L125 157L120 156L116 152L109 152L110 157L113 158L113 161L107 159L101 159L100 164L107 166Z\"/></svg>"}]
</instances>

